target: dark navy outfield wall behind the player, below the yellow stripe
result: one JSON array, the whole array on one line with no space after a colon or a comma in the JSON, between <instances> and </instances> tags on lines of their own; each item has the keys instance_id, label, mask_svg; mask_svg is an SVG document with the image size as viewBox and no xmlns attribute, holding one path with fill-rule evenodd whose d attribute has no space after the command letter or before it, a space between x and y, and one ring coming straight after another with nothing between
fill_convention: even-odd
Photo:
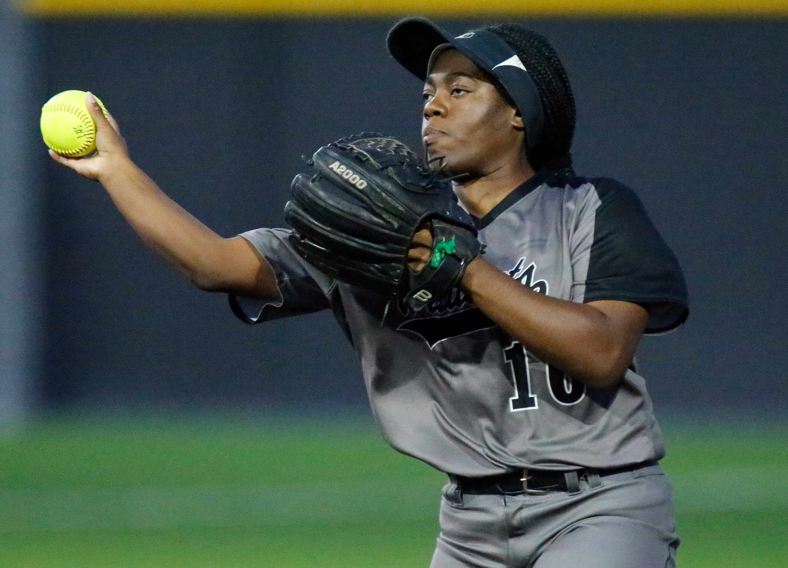
<instances>
[{"instance_id":1,"label":"dark navy outfield wall behind the player, below the yellow stripe","mask_svg":"<svg viewBox=\"0 0 788 568\"><path fill-rule=\"evenodd\" d=\"M91 89L132 157L218 233L283 226L300 155L365 129L418 145L393 20L39 20L40 103ZM478 22L447 21L460 32ZM646 338L657 409L781 411L788 22L531 21L578 103L579 173L631 185L686 271L681 331ZM143 249L101 187L46 170L42 408L363 407L331 317L247 327Z\"/></svg>"}]
</instances>

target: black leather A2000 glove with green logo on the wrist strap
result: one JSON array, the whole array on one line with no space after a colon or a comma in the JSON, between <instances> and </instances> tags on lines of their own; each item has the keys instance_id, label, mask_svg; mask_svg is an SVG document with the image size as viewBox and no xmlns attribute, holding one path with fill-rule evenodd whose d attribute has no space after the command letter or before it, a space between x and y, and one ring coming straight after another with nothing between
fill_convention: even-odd
<instances>
[{"instance_id":1,"label":"black leather A2000 glove with green logo on the wrist strap","mask_svg":"<svg viewBox=\"0 0 788 568\"><path fill-rule=\"evenodd\" d=\"M299 174L284 218L291 242L314 267L341 282L401 298L418 312L463 278L481 252L474 220L451 185L430 172L405 144L378 133L336 140ZM408 267L414 234L429 226L432 260Z\"/></svg>"}]
</instances>

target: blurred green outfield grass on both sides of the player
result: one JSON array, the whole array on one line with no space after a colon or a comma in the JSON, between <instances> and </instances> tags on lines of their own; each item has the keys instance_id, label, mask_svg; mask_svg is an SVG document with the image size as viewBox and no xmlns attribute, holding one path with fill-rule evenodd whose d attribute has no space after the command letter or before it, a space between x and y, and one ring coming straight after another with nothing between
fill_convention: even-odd
<instances>
[{"instance_id":1,"label":"blurred green outfield grass on both sides of the player","mask_svg":"<svg viewBox=\"0 0 788 568\"><path fill-rule=\"evenodd\" d=\"M664 426L682 568L788 566L788 428ZM363 419L48 420L0 438L0 567L426 568L444 476Z\"/></svg>"}]
</instances>

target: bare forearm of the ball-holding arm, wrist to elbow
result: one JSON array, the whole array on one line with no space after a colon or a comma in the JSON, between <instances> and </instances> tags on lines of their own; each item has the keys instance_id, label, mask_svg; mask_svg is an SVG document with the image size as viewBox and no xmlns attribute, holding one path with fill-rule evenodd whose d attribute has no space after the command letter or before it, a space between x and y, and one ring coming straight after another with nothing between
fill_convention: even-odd
<instances>
[{"instance_id":1,"label":"bare forearm of the ball-holding arm, wrist to elbow","mask_svg":"<svg viewBox=\"0 0 788 568\"><path fill-rule=\"evenodd\" d=\"M171 200L130 160L102 176L117 209L142 241L203 290L222 282L222 237Z\"/></svg>"}]
</instances>

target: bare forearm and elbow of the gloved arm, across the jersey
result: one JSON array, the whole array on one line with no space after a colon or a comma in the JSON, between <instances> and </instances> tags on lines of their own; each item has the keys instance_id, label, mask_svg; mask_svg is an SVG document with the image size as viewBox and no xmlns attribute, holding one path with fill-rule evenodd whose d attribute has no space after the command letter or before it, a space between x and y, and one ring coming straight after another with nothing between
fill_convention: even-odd
<instances>
[{"instance_id":1,"label":"bare forearm and elbow of the gloved arm, across the jersey","mask_svg":"<svg viewBox=\"0 0 788 568\"><path fill-rule=\"evenodd\" d=\"M534 292L486 260L470 264L463 288L522 346L590 387L614 386L632 361L636 345L620 341L603 312Z\"/></svg>"}]
</instances>

